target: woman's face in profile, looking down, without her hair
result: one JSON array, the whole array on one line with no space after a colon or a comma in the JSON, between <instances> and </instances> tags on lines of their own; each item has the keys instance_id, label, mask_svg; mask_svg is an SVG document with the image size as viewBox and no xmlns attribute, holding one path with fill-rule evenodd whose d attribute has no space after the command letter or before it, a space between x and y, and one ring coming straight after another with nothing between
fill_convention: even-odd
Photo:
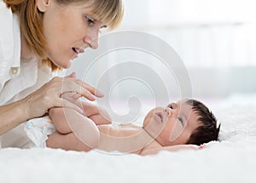
<instances>
[{"instance_id":1,"label":"woman's face in profile, looking down, without her hair","mask_svg":"<svg viewBox=\"0 0 256 183\"><path fill-rule=\"evenodd\" d=\"M106 27L90 15L88 3L59 4L55 0L38 0L44 12L44 37L48 56L56 66L68 68L84 49L97 49L99 31Z\"/></svg>"}]
</instances>

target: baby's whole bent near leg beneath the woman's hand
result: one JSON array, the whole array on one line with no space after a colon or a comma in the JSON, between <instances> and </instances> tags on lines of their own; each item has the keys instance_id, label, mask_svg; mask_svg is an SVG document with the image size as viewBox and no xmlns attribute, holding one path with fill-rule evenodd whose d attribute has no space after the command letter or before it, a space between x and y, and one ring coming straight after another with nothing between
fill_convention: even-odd
<instances>
[{"instance_id":1,"label":"baby's whole bent near leg beneath the woman's hand","mask_svg":"<svg viewBox=\"0 0 256 183\"><path fill-rule=\"evenodd\" d=\"M98 145L100 133L90 118L70 108L53 108L49 117L57 130L49 135L47 146L66 150L89 151ZM81 150L82 149L82 150Z\"/></svg>"}]
</instances>

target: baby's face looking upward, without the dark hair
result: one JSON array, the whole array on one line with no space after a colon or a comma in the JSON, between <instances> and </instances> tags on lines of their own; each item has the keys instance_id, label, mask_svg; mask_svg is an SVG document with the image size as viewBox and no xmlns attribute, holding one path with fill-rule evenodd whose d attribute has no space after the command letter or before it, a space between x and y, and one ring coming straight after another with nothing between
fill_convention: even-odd
<instances>
[{"instance_id":1,"label":"baby's face looking upward, without the dark hair","mask_svg":"<svg viewBox=\"0 0 256 183\"><path fill-rule=\"evenodd\" d=\"M195 112L184 101L158 106L148 112L143 128L161 146L185 144L190 134L199 126Z\"/></svg>"}]
</instances>

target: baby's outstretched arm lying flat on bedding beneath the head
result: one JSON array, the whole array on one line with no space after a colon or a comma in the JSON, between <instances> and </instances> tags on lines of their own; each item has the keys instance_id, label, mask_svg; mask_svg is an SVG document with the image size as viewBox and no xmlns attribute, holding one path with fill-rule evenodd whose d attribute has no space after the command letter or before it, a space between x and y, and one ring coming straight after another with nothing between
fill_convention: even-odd
<instances>
[{"instance_id":1,"label":"baby's outstretched arm lying flat on bedding beneath the head","mask_svg":"<svg viewBox=\"0 0 256 183\"><path fill-rule=\"evenodd\" d=\"M169 151L169 152L177 152L180 150L199 150L201 149L201 146L196 146L192 144L186 144L186 145L176 145L176 146L162 146L152 149L145 149L141 152L141 155L150 155L150 154L157 154L160 151Z\"/></svg>"}]
</instances>

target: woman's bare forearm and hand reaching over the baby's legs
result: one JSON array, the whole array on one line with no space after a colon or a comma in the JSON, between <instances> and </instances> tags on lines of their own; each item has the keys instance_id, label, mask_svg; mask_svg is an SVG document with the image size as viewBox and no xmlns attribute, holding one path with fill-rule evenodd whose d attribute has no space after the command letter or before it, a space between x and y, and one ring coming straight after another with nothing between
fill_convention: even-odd
<instances>
[{"instance_id":1,"label":"woman's bare forearm and hand reaching over the baby's legs","mask_svg":"<svg viewBox=\"0 0 256 183\"><path fill-rule=\"evenodd\" d=\"M24 99L7 106L0 106L0 134L4 134L20 123L34 117L42 117L52 107L69 107L81 112L79 106L62 99L65 92L76 92L89 100L103 95L88 83L73 77L54 77L40 89L27 95Z\"/></svg>"}]
</instances>

